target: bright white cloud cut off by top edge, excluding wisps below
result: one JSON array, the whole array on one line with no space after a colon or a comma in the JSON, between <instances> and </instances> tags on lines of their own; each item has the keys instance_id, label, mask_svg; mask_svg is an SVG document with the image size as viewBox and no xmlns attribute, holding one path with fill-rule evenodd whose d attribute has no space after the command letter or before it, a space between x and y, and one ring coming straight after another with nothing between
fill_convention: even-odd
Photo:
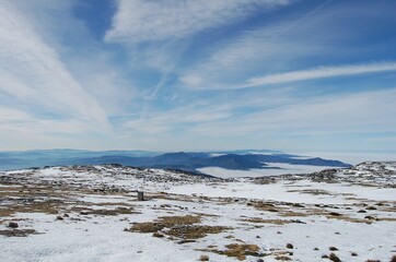
<instances>
[{"instance_id":1,"label":"bright white cloud cut off by top edge, excluding wisps below","mask_svg":"<svg viewBox=\"0 0 396 262\"><path fill-rule=\"evenodd\" d=\"M150 41L183 38L232 23L258 8L287 5L290 0L119 0L107 40Z\"/></svg>"}]
</instances>

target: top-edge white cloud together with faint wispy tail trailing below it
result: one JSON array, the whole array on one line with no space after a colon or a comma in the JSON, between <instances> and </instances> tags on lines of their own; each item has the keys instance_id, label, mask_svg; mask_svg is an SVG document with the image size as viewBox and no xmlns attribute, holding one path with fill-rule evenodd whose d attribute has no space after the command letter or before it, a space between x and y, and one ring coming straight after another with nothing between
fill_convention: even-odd
<instances>
[{"instance_id":1,"label":"top-edge white cloud together with faint wispy tail trailing below it","mask_svg":"<svg viewBox=\"0 0 396 262\"><path fill-rule=\"evenodd\" d=\"M292 0L119 0L107 43L124 45L132 68L160 73L152 79L149 100L177 78L189 60L191 39L201 32L229 26L252 14L291 4Z\"/></svg>"}]
</instances>

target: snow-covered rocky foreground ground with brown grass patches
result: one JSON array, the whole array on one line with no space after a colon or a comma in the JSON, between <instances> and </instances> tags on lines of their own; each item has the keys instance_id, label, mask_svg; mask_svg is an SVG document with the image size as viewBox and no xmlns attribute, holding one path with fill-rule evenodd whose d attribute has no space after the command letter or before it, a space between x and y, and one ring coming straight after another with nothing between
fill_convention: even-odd
<instances>
[{"instance_id":1,"label":"snow-covered rocky foreground ground with brown grass patches","mask_svg":"<svg viewBox=\"0 0 396 262\"><path fill-rule=\"evenodd\" d=\"M388 262L395 214L395 162L232 179L119 165L4 171L0 261Z\"/></svg>"}]
</instances>

